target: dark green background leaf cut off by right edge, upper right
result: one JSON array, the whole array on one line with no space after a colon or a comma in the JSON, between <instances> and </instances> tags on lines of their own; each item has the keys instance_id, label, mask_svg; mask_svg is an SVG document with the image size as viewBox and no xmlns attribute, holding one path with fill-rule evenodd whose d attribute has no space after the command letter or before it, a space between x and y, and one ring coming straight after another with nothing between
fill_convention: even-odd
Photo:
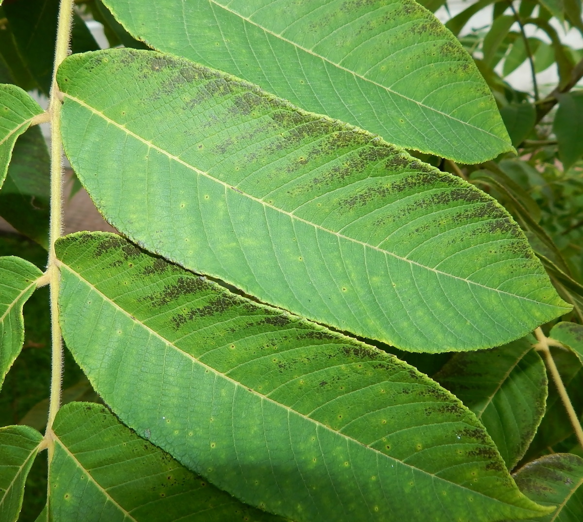
<instances>
[{"instance_id":1,"label":"dark green background leaf cut off by right edge, upper right","mask_svg":"<svg viewBox=\"0 0 583 522\"><path fill-rule=\"evenodd\" d=\"M559 96L553 132L559 143L559 157L567 171L583 156L583 91Z\"/></svg>"}]
</instances>

